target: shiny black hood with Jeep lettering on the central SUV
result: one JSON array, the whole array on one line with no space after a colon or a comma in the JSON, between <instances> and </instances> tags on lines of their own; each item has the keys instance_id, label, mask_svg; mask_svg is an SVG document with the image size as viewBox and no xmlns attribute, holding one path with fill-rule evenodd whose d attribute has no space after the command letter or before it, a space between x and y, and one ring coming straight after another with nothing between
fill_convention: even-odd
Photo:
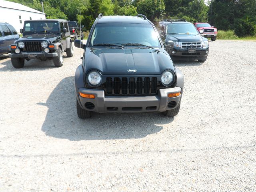
<instances>
[{"instance_id":1,"label":"shiny black hood with Jeep lettering on the central SUV","mask_svg":"<svg viewBox=\"0 0 256 192\"><path fill-rule=\"evenodd\" d=\"M163 49L86 48L84 66L103 75L150 75L174 71L168 53ZM85 70L86 70L85 69Z\"/></svg>"}]
</instances>

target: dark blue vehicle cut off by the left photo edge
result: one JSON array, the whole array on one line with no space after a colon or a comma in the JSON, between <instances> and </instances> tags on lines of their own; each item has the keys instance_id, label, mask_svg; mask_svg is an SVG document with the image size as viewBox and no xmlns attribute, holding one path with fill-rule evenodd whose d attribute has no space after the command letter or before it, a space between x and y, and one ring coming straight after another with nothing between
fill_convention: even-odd
<instances>
[{"instance_id":1,"label":"dark blue vehicle cut off by the left photo edge","mask_svg":"<svg viewBox=\"0 0 256 192\"><path fill-rule=\"evenodd\" d=\"M10 52L10 44L13 44L20 36L13 26L6 22L0 22L0 55Z\"/></svg>"}]
</instances>

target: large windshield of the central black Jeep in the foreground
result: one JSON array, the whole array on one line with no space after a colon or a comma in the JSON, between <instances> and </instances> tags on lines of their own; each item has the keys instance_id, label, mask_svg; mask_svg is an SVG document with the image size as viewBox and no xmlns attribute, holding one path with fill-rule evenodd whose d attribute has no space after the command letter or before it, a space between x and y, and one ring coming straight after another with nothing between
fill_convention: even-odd
<instances>
[{"instance_id":1,"label":"large windshield of the central black Jeep in the foreground","mask_svg":"<svg viewBox=\"0 0 256 192\"><path fill-rule=\"evenodd\" d=\"M97 44L122 44L124 47L129 48L137 44L137 46L144 45L144 47L142 46L140 48L146 48L146 46L161 48L158 33L149 24L96 24L89 46L96 46Z\"/></svg>"}]
</instances>

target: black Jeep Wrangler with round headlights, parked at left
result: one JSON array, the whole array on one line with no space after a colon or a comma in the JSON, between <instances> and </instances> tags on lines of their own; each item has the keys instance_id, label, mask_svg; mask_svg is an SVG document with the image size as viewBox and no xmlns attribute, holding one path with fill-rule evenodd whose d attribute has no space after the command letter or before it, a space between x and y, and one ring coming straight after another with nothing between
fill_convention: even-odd
<instances>
[{"instance_id":1,"label":"black Jeep Wrangler with round headlights, parked at left","mask_svg":"<svg viewBox=\"0 0 256 192\"><path fill-rule=\"evenodd\" d=\"M61 67L62 52L66 52L68 57L73 56L66 20L27 20L20 32L23 36L10 45L9 57L14 68L22 68L25 59L52 59L56 67Z\"/></svg>"}]
</instances>

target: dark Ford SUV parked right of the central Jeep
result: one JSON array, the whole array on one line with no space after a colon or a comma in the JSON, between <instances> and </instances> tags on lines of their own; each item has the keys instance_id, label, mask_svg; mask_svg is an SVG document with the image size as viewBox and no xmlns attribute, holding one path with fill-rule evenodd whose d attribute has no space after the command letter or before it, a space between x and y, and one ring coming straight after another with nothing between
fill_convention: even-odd
<instances>
[{"instance_id":1,"label":"dark Ford SUV parked right of the central Jeep","mask_svg":"<svg viewBox=\"0 0 256 192\"><path fill-rule=\"evenodd\" d=\"M200 35L194 24L182 19L162 20L158 29L163 42L174 41L174 48L167 50L172 60L206 61L208 39Z\"/></svg>"}]
</instances>

